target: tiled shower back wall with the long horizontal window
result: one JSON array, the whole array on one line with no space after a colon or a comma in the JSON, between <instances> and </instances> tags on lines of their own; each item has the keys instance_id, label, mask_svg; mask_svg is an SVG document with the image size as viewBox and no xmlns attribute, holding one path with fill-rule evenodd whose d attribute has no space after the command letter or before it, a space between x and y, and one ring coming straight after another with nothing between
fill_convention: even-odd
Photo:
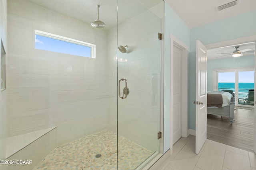
<instances>
[{"instance_id":1,"label":"tiled shower back wall with the long horizontal window","mask_svg":"<svg viewBox=\"0 0 256 170\"><path fill-rule=\"evenodd\" d=\"M96 59L34 49L34 29L95 44ZM60 145L106 129L107 42L103 29L8 0L8 135L57 126Z\"/></svg>"}]
</instances>

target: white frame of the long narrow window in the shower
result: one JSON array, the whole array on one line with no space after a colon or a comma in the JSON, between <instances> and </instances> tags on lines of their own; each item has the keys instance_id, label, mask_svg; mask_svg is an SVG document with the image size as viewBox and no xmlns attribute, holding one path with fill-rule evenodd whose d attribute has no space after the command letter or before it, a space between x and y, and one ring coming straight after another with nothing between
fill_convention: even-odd
<instances>
[{"instance_id":1,"label":"white frame of the long narrow window in the shower","mask_svg":"<svg viewBox=\"0 0 256 170\"><path fill-rule=\"evenodd\" d=\"M36 49L36 35L40 35L40 36L44 36L44 37L48 37L48 38L52 38L52 39L56 39L56 40L60 40L60 41L65 41L68 43L73 43L73 44L82 45L85 47L90 47L91 48L91 56L87 57L87 58L96 59L96 45L95 44L86 43L84 41L79 41L77 39L72 39L72 38L61 36L61 35L56 35L53 33L40 31L37 29L35 29L34 35L35 35L35 40L34 40L35 41L34 42L35 49ZM48 51L48 50L45 50L45 51ZM51 51L51 52L55 52L55 51ZM55 52L55 53L59 53L59 52ZM67 54L67 53L64 53L64 54ZM72 55L72 54L69 54L69 55ZM78 55L78 56L81 56L81 55ZM84 56L81 56L81 57L84 57Z\"/></svg>"}]
</instances>

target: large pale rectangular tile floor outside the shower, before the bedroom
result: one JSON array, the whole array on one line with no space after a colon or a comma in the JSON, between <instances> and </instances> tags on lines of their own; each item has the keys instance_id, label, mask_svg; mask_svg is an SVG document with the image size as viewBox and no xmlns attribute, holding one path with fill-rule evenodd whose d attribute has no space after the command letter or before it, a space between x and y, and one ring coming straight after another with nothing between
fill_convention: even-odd
<instances>
[{"instance_id":1,"label":"large pale rectangular tile floor outside the shower, before the bedroom","mask_svg":"<svg viewBox=\"0 0 256 170\"><path fill-rule=\"evenodd\" d=\"M158 170L256 170L256 154L206 140L195 154L195 137L181 138Z\"/></svg>"}]
</instances>

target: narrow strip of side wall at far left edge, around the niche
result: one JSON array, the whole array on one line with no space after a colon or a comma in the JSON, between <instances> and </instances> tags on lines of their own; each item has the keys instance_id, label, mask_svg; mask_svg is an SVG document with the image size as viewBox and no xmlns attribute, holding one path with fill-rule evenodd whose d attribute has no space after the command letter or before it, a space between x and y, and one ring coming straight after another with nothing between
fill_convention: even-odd
<instances>
[{"instance_id":1,"label":"narrow strip of side wall at far left edge, around the niche","mask_svg":"<svg viewBox=\"0 0 256 170\"><path fill-rule=\"evenodd\" d=\"M0 0L0 39L7 50L7 1ZM1 52L1 48L0 48ZM1 65L1 61L0 61ZM0 70L1 75L1 70ZM0 160L6 158L7 139L7 90L0 94ZM0 169L5 170L6 166L0 164Z\"/></svg>"}]
</instances>

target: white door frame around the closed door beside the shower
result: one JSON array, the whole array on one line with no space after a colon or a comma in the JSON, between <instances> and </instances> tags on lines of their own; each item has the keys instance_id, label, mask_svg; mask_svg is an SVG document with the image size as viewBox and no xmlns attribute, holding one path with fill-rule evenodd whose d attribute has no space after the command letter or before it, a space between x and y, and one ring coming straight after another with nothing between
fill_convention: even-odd
<instances>
[{"instance_id":1,"label":"white door frame around the closed door beside the shower","mask_svg":"<svg viewBox=\"0 0 256 170\"><path fill-rule=\"evenodd\" d=\"M170 149L173 143L173 46L182 50L182 137L188 137L188 46L170 33Z\"/></svg>"}]
</instances>

